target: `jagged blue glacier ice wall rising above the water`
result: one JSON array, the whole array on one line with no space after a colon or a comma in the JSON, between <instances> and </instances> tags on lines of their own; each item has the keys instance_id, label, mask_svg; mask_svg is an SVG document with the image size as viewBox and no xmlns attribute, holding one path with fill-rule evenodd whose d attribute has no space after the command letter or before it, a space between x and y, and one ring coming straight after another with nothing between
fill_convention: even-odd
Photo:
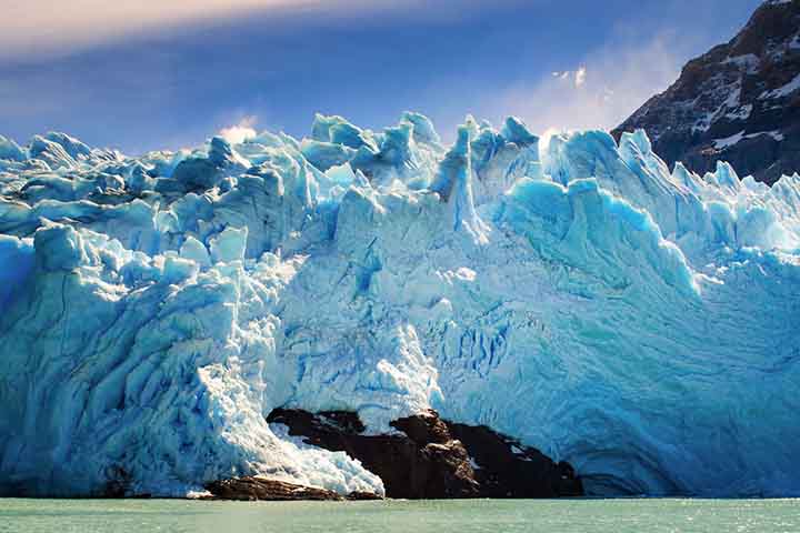
<instances>
[{"instance_id":1,"label":"jagged blue glacier ice wall rising above the water","mask_svg":"<svg viewBox=\"0 0 800 533\"><path fill-rule=\"evenodd\" d=\"M0 493L381 492L274 408L432 406L598 494L800 494L800 177L472 118L129 158L0 137Z\"/></svg>"}]
</instances>

